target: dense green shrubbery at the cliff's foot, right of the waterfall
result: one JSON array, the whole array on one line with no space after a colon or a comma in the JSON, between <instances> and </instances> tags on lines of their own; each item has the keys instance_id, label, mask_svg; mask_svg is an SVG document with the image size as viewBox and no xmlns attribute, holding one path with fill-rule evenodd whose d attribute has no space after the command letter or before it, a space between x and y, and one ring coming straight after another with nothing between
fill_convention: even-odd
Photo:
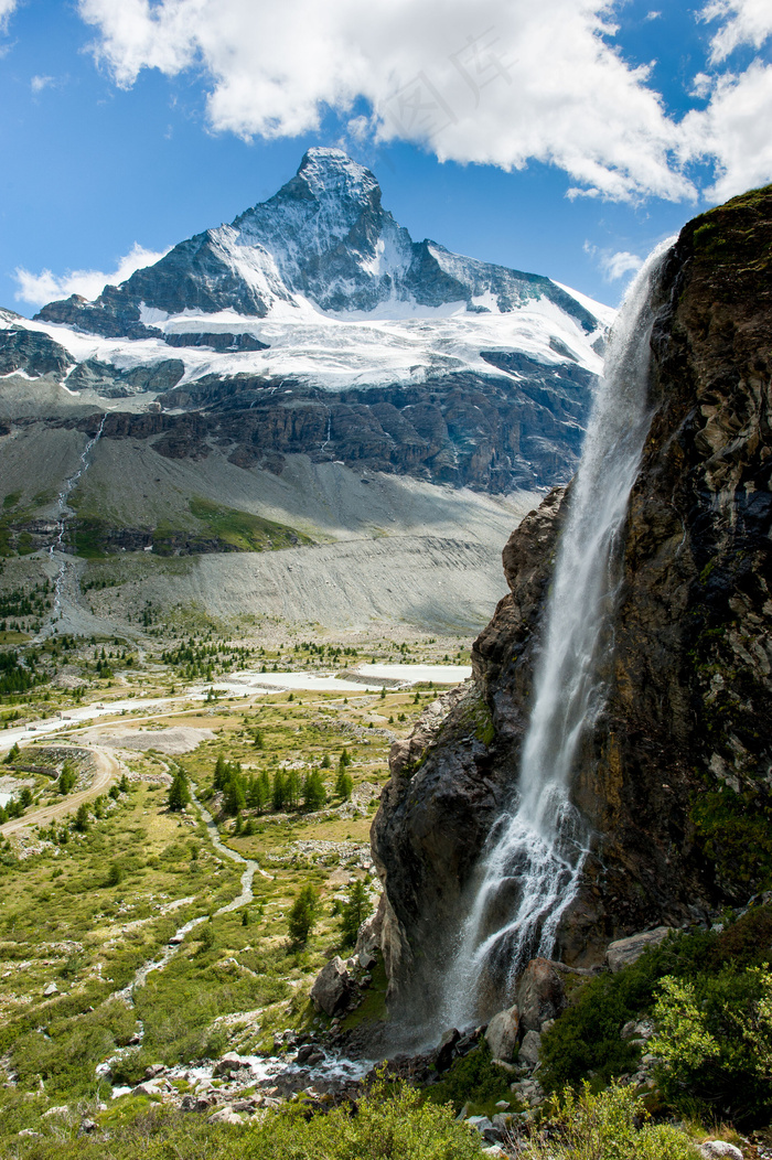
<instances>
[{"instance_id":1,"label":"dense green shrubbery at the cliff's foot, right of the waterfall","mask_svg":"<svg viewBox=\"0 0 772 1160\"><path fill-rule=\"evenodd\" d=\"M772 1093L757 1067L766 1032L759 1024L753 1039L743 1028L758 1024L764 1010L759 969L771 941L772 907L753 907L723 931L671 935L619 973L587 980L543 1035L542 1086L557 1093L589 1075L599 1085L633 1071L640 1049L620 1038L621 1029L658 1005L659 1041L674 1052L661 1051L666 1100L683 1114L717 1110L744 1124L769 1116ZM698 1058L704 1035L717 1050Z\"/></svg>"}]
</instances>

